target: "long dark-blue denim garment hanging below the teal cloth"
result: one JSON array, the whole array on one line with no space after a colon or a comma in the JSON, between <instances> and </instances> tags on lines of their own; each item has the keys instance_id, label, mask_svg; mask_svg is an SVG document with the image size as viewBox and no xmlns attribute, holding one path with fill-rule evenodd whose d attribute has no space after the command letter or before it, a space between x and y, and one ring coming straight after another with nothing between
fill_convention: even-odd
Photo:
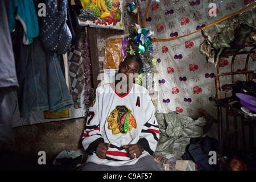
<instances>
[{"instance_id":1,"label":"long dark-blue denim garment hanging below the teal cloth","mask_svg":"<svg viewBox=\"0 0 256 182\"><path fill-rule=\"evenodd\" d=\"M12 34L16 72L20 88L17 91L20 117L28 118L32 111L62 111L72 106L60 60L54 51L46 51L39 38L30 45L21 43L22 26Z\"/></svg>"}]
</instances>

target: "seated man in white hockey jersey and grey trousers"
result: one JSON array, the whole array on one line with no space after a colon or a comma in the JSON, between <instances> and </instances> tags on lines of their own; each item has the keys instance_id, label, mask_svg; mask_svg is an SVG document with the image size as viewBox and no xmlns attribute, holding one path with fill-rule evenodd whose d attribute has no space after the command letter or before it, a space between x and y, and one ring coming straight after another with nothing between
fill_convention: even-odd
<instances>
[{"instance_id":1,"label":"seated man in white hockey jersey and grey trousers","mask_svg":"<svg viewBox=\"0 0 256 182\"><path fill-rule=\"evenodd\" d=\"M88 154L82 170L160 170L153 153L159 139L148 90L133 80L142 69L139 55L119 64L121 81L101 85L89 108L82 137Z\"/></svg>"}]
</instances>

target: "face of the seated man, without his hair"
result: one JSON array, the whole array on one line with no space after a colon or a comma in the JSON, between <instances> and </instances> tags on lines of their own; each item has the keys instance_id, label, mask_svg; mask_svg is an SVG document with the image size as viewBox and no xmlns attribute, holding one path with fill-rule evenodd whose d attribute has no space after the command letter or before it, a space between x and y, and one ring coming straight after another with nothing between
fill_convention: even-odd
<instances>
[{"instance_id":1,"label":"face of the seated man, without his hair","mask_svg":"<svg viewBox=\"0 0 256 182\"><path fill-rule=\"evenodd\" d=\"M125 61L123 61L121 64L119 64L119 71L118 73L123 73L122 74L122 81L127 80L127 82L129 81L129 79L132 79L134 77L138 77L138 73L139 73L139 69L140 69L140 65L139 63L137 63L135 60L132 59L126 59ZM137 73L137 76L134 76L134 74Z\"/></svg>"}]
</instances>

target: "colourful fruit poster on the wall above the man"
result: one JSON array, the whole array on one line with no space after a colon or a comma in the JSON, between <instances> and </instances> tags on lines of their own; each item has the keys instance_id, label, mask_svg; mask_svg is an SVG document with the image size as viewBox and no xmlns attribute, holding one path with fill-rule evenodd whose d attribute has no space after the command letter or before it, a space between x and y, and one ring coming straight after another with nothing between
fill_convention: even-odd
<instances>
[{"instance_id":1,"label":"colourful fruit poster on the wall above the man","mask_svg":"<svg viewBox=\"0 0 256 182\"><path fill-rule=\"evenodd\" d=\"M119 0L80 0L79 24L98 28L123 30L123 1Z\"/></svg>"}]
</instances>

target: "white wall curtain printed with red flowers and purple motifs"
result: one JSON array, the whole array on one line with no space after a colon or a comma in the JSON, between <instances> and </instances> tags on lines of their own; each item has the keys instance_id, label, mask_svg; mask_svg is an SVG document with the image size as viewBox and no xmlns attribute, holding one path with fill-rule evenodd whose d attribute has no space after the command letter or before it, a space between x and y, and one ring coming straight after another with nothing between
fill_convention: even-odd
<instances>
[{"instance_id":1,"label":"white wall curtain printed with red flowers and purple motifs","mask_svg":"<svg viewBox=\"0 0 256 182\"><path fill-rule=\"evenodd\" d=\"M190 34L207 24L232 14L248 6L250 0L161 0L150 1L145 28L154 31L154 38L168 39ZM147 1L138 1L141 16L145 15ZM211 4L210 3L214 3ZM216 16L210 9L216 5ZM214 32L214 28L206 31ZM204 38L201 32L169 42L155 42L154 57L156 63L156 86L158 89L158 112L177 111L187 116L195 116L207 111L216 117L216 106L212 95L216 93L214 74L216 67L207 63L199 52ZM245 56L238 55L235 68L245 68ZM230 70L231 57L220 60L220 72ZM253 59L249 60L250 70L256 71ZM240 76L245 80L245 76ZM222 77L222 84L230 83L231 76ZM222 94L232 94L231 90L221 90Z\"/></svg>"}]
</instances>

